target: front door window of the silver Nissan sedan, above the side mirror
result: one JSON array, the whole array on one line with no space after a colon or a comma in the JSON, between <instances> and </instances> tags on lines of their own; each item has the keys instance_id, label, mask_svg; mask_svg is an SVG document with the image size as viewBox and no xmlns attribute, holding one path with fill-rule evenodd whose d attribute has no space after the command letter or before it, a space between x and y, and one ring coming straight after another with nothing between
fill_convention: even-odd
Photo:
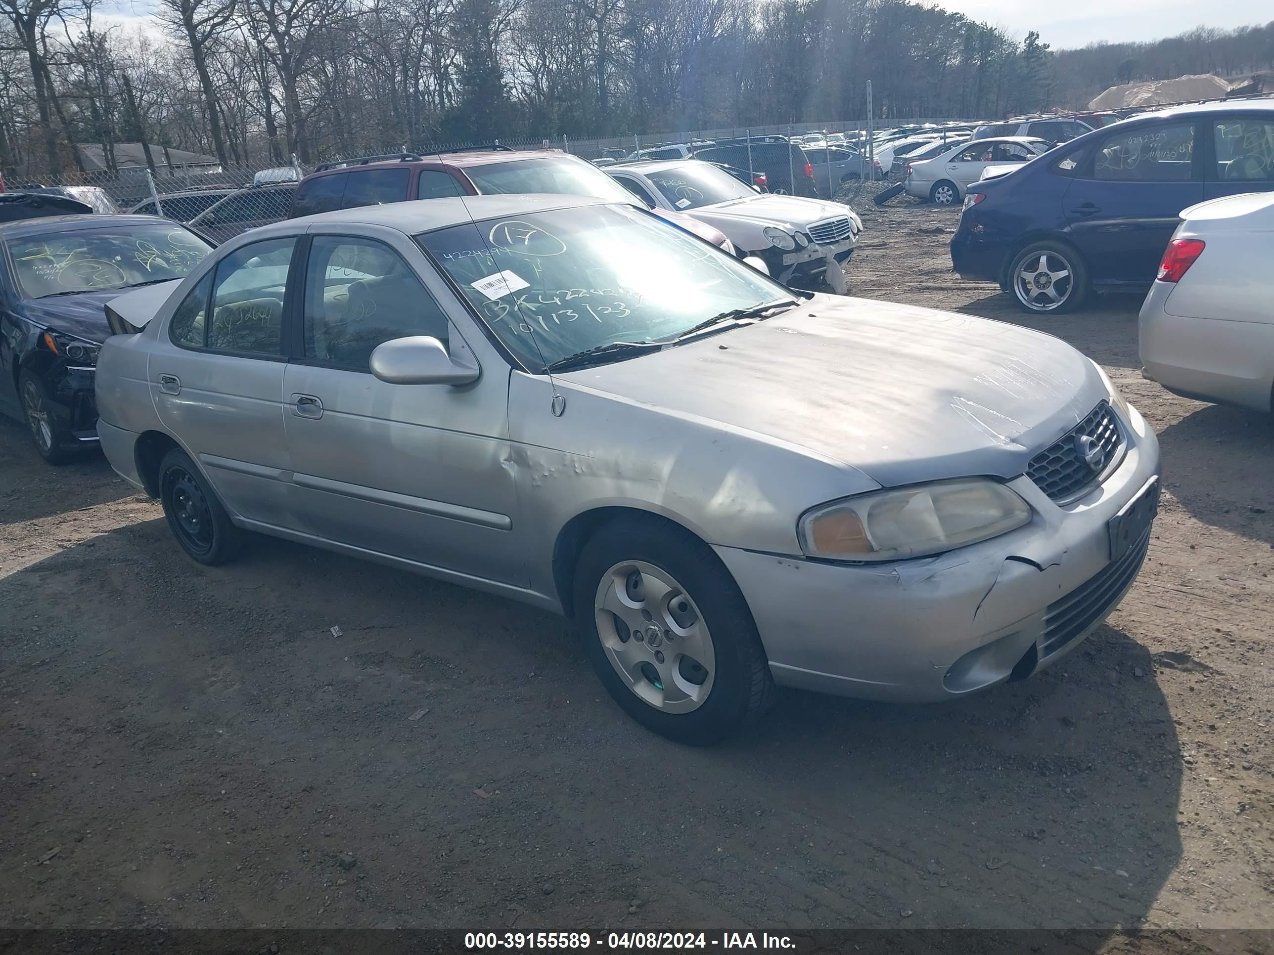
<instances>
[{"instance_id":1,"label":"front door window of the silver Nissan sedan, above the side mirror","mask_svg":"<svg viewBox=\"0 0 1274 955\"><path fill-rule=\"evenodd\" d=\"M306 271L306 358L366 372L382 341L432 335L447 344L447 317L389 246L316 236Z\"/></svg>"}]
</instances>

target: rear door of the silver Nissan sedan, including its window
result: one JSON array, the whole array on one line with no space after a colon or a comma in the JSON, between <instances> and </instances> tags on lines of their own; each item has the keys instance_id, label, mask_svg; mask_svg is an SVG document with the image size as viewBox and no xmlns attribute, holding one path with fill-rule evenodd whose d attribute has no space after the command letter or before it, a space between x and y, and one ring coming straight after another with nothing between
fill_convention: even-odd
<instances>
[{"instance_id":1,"label":"rear door of the silver Nissan sedan, including its window","mask_svg":"<svg viewBox=\"0 0 1274 955\"><path fill-rule=\"evenodd\" d=\"M222 257L177 306L149 362L159 420L246 520L288 526L283 317L297 237Z\"/></svg>"}]
</instances>

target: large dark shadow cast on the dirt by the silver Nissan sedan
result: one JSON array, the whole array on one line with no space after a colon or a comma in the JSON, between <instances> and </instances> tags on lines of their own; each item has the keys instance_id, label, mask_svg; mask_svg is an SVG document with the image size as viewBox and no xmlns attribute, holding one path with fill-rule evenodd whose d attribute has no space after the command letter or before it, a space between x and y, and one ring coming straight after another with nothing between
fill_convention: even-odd
<instances>
[{"instance_id":1,"label":"large dark shadow cast on the dirt by the silver Nissan sedan","mask_svg":"<svg viewBox=\"0 0 1274 955\"><path fill-rule=\"evenodd\" d=\"M1173 722L1112 626L952 704L784 691L693 749L561 619L285 541L205 568L139 520L0 577L0 763L56 770L6 833L64 847L39 899L94 872L115 921L307 924L311 877L273 874L353 847L343 924L1112 928L1181 858ZM33 885L0 870L14 904Z\"/></svg>"}]
</instances>

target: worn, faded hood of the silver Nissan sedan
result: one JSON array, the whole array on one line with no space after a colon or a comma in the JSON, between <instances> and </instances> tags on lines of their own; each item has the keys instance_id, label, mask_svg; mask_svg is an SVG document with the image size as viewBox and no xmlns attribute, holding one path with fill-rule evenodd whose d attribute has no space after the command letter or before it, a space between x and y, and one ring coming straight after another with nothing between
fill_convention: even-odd
<instances>
[{"instance_id":1,"label":"worn, faded hood of the silver Nissan sedan","mask_svg":"<svg viewBox=\"0 0 1274 955\"><path fill-rule=\"evenodd\" d=\"M882 485L1014 478L1107 397L1060 339L815 295L789 313L563 381L850 465Z\"/></svg>"}]
</instances>

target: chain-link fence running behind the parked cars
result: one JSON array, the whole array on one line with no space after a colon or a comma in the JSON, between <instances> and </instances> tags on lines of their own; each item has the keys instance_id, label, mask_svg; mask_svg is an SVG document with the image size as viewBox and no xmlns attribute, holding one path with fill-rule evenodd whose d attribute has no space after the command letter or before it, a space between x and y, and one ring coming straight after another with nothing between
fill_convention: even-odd
<instances>
[{"instance_id":1,"label":"chain-link fence running behind the parked cars","mask_svg":"<svg viewBox=\"0 0 1274 955\"><path fill-rule=\"evenodd\" d=\"M950 120L907 120L907 127L926 124L950 124ZM215 242L224 242L246 229L278 222L287 216L297 182L307 173L324 167L331 167L367 157L399 158L419 155L428 158L434 154L462 152L465 149L490 149L505 146L515 150L558 149L572 155L595 162L601 167L622 162L629 157L654 150L652 158L669 158L664 152L683 154L683 146L705 146L712 141L755 139L763 136L785 136L801 144L803 136L826 138L831 132L843 134L847 143L857 143L864 134L861 121L827 121L812 124L771 125L752 127L730 127L712 130L687 130L684 132L662 132L604 139L517 139L487 140L474 143L426 144L419 149L400 144L386 149L383 145L367 150L354 150L349 155L336 154L324 157L316 163L302 163L296 157L285 166L224 166L214 158L196 153L168 150L150 146L150 164L136 162L144 150L121 146L138 144L116 144L112 154L116 157L113 168L88 168L102 163L106 153L101 146L80 146L84 172L78 169L57 176L34 177L27 181L6 183L10 192L36 191L62 195L87 204L96 213L143 213L162 215L176 222L190 224L200 234ZM887 124L879 124L885 126ZM813 144L810 144L813 145ZM661 149L664 146L665 149ZM740 152L740 155L743 153ZM799 155L799 153L798 153ZM813 155L813 154L812 154ZM130 164L121 163L120 157L132 157ZM826 158L826 157L824 157ZM817 162L817 158L815 158ZM740 159L740 166L748 160ZM152 168L153 166L153 168ZM815 177L818 195L836 196L845 192L840 180L833 180L831 163L827 167L827 181ZM822 172L823 167L817 167ZM762 172L758 167L758 172ZM874 177L865 177L869 181ZM851 186L852 183L845 183ZM851 191L856 196L861 191L859 183ZM840 196L838 196L840 197Z\"/></svg>"}]
</instances>

